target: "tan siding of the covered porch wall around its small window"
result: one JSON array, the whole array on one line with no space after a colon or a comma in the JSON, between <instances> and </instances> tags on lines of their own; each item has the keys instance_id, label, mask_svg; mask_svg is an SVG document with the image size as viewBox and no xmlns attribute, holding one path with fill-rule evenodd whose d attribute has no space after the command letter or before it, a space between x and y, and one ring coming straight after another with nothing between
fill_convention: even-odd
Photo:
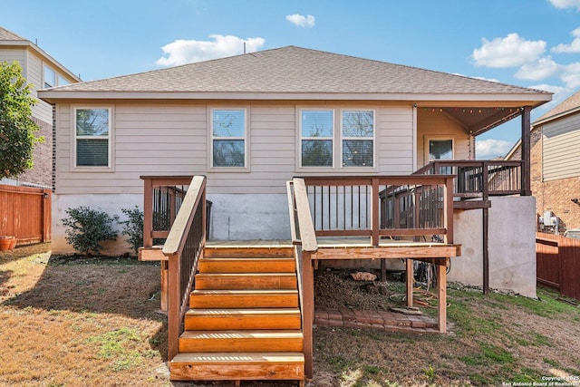
<instances>
[{"instance_id":1,"label":"tan siding of the covered porch wall around its small window","mask_svg":"<svg viewBox=\"0 0 580 387\"><path fill-rule=\"evenodd\" d=\"M469 160L469 134L457 122L450 120L440 111L419 108L417 113L417 167L420 168L429 162L429 155L425 150L428 140L453 140L453 159Z\"/></svg>"}]
</instances>

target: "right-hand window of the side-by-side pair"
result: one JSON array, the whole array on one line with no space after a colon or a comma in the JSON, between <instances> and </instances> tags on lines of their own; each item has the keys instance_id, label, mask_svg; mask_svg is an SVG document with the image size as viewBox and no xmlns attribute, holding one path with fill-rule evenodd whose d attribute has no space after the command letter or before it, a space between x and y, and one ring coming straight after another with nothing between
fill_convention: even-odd
<instances>
[{"instance_id":1,"label":"right-hand window of the side-by-side pair","mask_svg":"<svg viewBox=\"0 0 580 387\"><path fill-rule=\"evenodd\" d=\"M343 111L343 167L374 164L374 111Z\"/></svg>"}]
</instances>

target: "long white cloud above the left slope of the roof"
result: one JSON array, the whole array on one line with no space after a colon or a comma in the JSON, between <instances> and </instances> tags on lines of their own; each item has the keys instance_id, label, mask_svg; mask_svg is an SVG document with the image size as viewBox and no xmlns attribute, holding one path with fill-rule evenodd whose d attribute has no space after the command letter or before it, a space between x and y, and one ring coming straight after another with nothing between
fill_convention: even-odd
<instances>
[{"instance_id":1,"label":"long white cloud above the left slope of the roof","mask_svg":"<svg viewBox=\"0 0 580 387\"><path fill-rule=\"evenodd\" d=\"M163 56L155 63L160 66L177 66L179 64L208 61L225 58L240 53L253 53L260 49L266 40L263 38L241 39L232 35L209 35L210 41L176 40L161 47Z\"/></svg>"}]
</instances>

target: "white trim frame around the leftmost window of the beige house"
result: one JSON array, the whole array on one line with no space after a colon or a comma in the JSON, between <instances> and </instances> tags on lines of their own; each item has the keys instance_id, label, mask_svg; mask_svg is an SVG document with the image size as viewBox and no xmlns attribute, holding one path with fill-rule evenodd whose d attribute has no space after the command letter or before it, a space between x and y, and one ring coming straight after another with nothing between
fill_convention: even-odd
<instances>
[{"instance_id":1,"label":"white trim frame around the leftmost window of the beige house","mask_svg":"<svg viewBox=\"0 0 580 387\"><path fill-rule=\"evenodd\" d=\"M76 135L76 111L79 109L106 109L109 111L109 135L108 136L78 136ZM113 124L113 117L115 116L114 108L111 105L74 105L71 106L71 150L73 150L71 154L71 170L72 171L82 171L82 172L114 172L114 124ZM108 140L108 153L109 153L109 160L107 167L92 167L92 166L77 166L76 160L76 140L77 139L104 139Z\"/></svg>"}]
</instances>

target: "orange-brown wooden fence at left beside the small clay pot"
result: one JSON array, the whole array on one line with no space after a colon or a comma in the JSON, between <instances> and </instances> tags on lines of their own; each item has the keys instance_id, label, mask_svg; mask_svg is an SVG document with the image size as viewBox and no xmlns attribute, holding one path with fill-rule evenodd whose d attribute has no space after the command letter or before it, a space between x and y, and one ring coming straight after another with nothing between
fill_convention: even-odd
<instances>
[{"instance_id":1,"label":"orange-brown wooden fence at left beside the small clay pot","mask_svg":"<svg viewBox=\"0 0 580 387\"><path fill-rule=\"evenodd\" d=\"M51 240L51 190L0 185L0 237L16 245Z\"/></svg>"}]
</instances>

